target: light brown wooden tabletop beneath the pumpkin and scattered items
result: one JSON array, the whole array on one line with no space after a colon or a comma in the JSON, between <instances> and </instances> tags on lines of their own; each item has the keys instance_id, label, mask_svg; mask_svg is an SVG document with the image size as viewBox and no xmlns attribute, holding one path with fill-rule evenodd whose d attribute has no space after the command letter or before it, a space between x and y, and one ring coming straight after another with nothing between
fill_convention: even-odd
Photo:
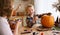
<instances>
[{"instance_id":1,"label":"light brown wooden tabletop beneath the pumpkin and scattered items","mask_svg":"<svg viewBox=\"0 0 60 35\"><path fill-rule=\"evenodd\" d=\"M60 35L60 28L57 29L57 27L54 27L56 28L55 30L42 30L42 31L37 31L37 27L39 26L39 24L36 24L34 25L32 28L27 28L27 27L19 27L19 35L33 35L33 32L37 33L36 35L41 35L41 33L43 33L43 35ZM27 30L28 32L31 32L31 33L24 33L26 31L24 30ZM59 32L59 33L53 33L53 32ZM22 33L22 34L21 34Z\"/></svg>"}]
</instances>

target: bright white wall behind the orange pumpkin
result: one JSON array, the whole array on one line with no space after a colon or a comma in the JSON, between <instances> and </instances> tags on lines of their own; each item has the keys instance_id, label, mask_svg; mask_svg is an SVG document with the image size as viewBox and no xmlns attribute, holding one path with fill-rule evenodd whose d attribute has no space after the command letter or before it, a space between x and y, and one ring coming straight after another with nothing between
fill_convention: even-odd
<instances>
[{"instance_id":1,"label":"bright white wall behind the orange pumpkin","mask_svg":"<svg viewBox=\"0 0 60 35\"><path fill-rule=\"evenodd\" d=\"M35 0L34 2L36 14L51 12L56 21L59 11L56 11L56 8L53 8L52 4L57 3L58 0Z\"/></svg>"}]
</instances>

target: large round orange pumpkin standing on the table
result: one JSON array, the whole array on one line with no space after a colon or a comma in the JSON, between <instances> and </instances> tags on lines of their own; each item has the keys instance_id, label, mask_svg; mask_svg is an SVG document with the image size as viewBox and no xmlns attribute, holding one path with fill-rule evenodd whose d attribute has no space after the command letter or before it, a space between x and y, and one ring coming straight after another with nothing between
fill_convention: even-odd
<instances>
[{"instance_id":1,"label":"large round orange pumpkin standing on the table","mask_svg":"<svg viewBox=\"0 0 60 35\"><path fill-rule=\"evenodd\" d=\"M54 17L49 15L44 15L41 17L41 23L43 27L53 27L54 26Z\"/></svg>"}]
</instances>

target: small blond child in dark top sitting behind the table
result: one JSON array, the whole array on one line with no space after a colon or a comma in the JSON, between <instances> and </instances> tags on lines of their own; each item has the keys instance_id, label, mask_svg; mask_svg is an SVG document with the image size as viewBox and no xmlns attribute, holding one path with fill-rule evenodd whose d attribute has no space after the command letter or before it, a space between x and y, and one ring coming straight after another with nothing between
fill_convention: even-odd
<instances>
[{"instance_id":1,"label":"small blond child in dark top sitting behind the table","mask_svg":"<svg viewBox=\"0 0 60 35\"><path fill-rule=\"evenodd\" d=\"M35 24L33 5L28 5L26 7L26 12L27 12L27 18L26 18L27 27L31 28Z\"/></svg>"}]
</instances>

